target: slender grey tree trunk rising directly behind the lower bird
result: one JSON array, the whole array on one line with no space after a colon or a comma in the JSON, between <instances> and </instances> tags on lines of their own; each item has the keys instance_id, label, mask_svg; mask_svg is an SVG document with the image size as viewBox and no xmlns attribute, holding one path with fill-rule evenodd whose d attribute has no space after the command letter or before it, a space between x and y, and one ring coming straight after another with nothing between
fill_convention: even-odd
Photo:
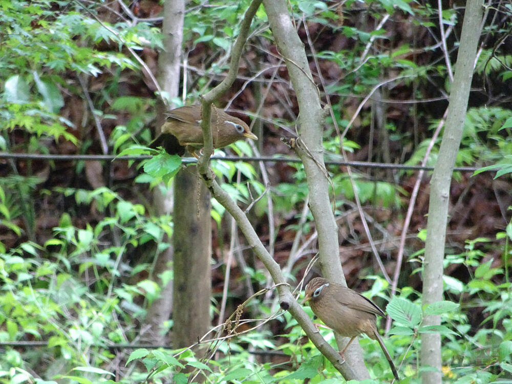
<instances>
[{"instance_id":1,"label":"slender grey tree trunk rising directly behind the lower bird","mask_svg":"<svg viewBox=\"0 0 512 384\"><path fill-rule=\"evenodd\" d=\"M329 200L329 180L323 159L322 132L324 111L320 104L318 88L313 82L304 44L290 19L287 3L283 0L264 0L270 29L286 66L293 89L297 95L300 116L297 154L306 172L309 189L309 206L318 231L320 264L324 277L346 285L342 265L339 261L338 228ZM346 337L336 337L339 350L348 342ZM342 373L347 380L369 378L357 343L350 345L346 354L347 363Z\"/></svg>"}]
</instances>

